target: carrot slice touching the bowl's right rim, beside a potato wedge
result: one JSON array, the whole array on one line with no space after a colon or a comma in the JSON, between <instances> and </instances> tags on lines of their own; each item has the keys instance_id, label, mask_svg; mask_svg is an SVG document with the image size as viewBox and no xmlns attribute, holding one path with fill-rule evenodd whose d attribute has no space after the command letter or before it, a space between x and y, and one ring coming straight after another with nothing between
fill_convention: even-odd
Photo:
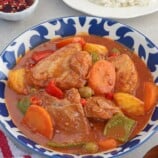
<instances>
[{"instance_id":1,"label":"carrot slice touching the bowl's right rim, beside a potato wedge","mask_svg":"<svg viewBox=\"0 0 158 158\"><path fill-rule=\"evenodd\" d=\"M145 111L150 111L158 100L158 88L152 82L144 83L144 107Z\"/></svg>"}]
</instances>

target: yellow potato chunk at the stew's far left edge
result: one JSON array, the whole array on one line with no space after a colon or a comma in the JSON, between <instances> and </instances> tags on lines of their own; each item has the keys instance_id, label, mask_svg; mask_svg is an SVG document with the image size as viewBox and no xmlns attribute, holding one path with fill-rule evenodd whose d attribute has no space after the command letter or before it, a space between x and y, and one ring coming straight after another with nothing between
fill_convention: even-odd
<instances>
[{"instance_id":1,"label":"yellow potato chunk at the stew's far left edge","mask_svg":"<svg viewBox=\"0 0 158 158\"><path fill-rule=\"evenodd\" d=\"M8 85L17 93L25 94L25 69L11 70L8 76Z\"/></svg>"}]
</instances>

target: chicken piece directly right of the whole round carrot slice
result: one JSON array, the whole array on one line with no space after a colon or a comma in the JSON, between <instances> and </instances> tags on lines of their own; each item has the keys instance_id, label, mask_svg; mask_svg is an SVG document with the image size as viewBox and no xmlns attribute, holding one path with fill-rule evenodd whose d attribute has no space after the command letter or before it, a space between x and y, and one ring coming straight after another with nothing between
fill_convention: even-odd
<instances>
[{"instance_id":1,"label":"chicken piece directly right of the whole round carrot slice","mask_svg":"<svg viewBox=\"0 0 158 158\"><path fill-rule=\"evenodd\" d=\"M131 58L122 54L109 59L116 68L116 92L133 94L138 84L138 73Z\"/></svg>"}]
</instances>

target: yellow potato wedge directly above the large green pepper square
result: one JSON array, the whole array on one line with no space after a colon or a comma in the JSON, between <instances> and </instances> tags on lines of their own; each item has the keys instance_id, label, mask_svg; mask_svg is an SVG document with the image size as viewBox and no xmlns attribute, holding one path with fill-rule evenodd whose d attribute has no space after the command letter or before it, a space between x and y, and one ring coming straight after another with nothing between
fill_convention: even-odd
<instances>
[{"instance_id":1,"label":"yellow potato wedge directly above the large green pepper square","mask_svg":"<svg viewBox=\"0 0 158 158\"><path fill-rule=\"evenodd\" d=\"M144 115L144 102L128 93L115 93L114 100L126 113L134 116Z\"/></svg>"}]
</instances>

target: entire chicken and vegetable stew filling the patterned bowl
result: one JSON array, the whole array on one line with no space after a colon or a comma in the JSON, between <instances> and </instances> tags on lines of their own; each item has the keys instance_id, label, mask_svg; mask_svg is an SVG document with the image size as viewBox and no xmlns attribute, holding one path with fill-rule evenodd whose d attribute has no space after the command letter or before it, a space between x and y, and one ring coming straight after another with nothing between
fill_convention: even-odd
<instances>
[{"instance_id":1,"label":"entire chicken and vegetable stew filling the patterned bowl","mask_svg":"<svg viewBox=\"0 0 158 158\"><path fill-rule=\"evenodd\" d=\"M152 115L157 87L131 50L109 38L81 35L27 52L9 72L5 97L15 125L30 139L86 154L138 134Z\"/></svg>"}]
</instances>

